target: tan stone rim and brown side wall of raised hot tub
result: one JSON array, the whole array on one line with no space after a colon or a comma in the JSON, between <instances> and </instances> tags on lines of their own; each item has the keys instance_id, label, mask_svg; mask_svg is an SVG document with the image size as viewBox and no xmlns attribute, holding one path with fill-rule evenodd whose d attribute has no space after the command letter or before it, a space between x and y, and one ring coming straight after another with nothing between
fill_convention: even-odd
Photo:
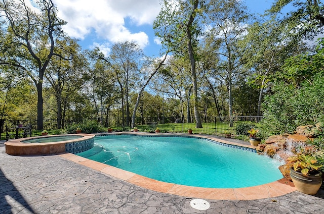
<instances>
[{"instance_id":1,"label":"tan stone rim and brown side wall of raised hot tub","mask_svg":"<svg viewBox=\"0 0 324 214\"><path fill-rule=\"evenodd\" d=\"M62 136L82 136L80 138L47 142L47 143L24 143L22 141L38 138L51 138ZM37 137L26 137L19 139L12 139L5 142L6 153L10 155L48 155L48 154L60 154L65 152L65 143L79 142L94 138L93 134L66 134L66 135L44 135Z\"/></svg>"}]
</instances>

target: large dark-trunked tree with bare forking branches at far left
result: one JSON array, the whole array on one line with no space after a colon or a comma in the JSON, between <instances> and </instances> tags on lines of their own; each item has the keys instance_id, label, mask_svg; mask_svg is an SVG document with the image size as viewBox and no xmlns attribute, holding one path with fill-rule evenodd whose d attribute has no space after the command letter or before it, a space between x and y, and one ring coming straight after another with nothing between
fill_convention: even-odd
<instances>
[{"instance_id":1,"label":"large dark-trunked tree with bare forking branches at far left","mask_svg":"<svg viewBox=\"0 0 324 214\"><path fill-rule=\"evenodd\" d=\"M67 60L57 52L57 41L65 39L52 0L40 0L39 13L24 0L2 0L1 17L7 22L7 32L1 37L0 65L15 67L21 76L28 76L37 89L37 128L43 129L43 80L53 56ZM69 56L69 55L66 55ZM71 58L71 55L70 55ZM69 59L70 59L69 58Z\"/></svg>"}]
</instances>

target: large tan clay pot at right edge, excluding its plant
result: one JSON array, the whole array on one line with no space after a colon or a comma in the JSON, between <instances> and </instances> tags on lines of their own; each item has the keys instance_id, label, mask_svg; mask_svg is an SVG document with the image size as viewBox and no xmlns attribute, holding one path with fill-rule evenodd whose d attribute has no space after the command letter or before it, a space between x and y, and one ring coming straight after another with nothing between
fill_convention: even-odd
<instances>
[{"instance_id":1,"label":"large tan clay pot at right edge, excluding its plant","mask_svg":"<svg viewBox=\"0 0 324 214\"><path fill-rule=\"evenodd\" d=\"M296 172L291 168L290 177L296 189L308 195L315 195L322 184L322 173L304 176L302 173Z\"/></svg>"}]
</instances>

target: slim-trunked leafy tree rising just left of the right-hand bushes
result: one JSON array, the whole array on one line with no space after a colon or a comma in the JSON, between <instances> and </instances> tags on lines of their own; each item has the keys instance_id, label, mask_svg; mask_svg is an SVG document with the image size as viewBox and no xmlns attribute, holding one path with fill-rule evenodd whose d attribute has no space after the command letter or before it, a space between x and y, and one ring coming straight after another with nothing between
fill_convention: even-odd
<instances>
[{"instance_id":1,"label":"slim-trunked leafy tree rising just left of the right-hand bushes","mask_svg":"<svg viewBox=\"0 0 324 214\"><path fill-rule=\"evenodd\" d=\"M272 76L280 70L289 57L306 50L305 43L292 39L274 19L249 25L248 33L239 41L241 60L251 70L249 83L259 89L257 116L264 90L269 87Z\"/></svg>"}]
</instances>

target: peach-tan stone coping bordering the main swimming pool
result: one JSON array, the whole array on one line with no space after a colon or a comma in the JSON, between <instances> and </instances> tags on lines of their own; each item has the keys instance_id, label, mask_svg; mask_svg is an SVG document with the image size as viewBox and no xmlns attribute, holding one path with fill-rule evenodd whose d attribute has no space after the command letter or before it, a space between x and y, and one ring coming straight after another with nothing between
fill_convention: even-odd
<instances>
[{"instance_id":1,"label":"peach-tan stone coping bordering the main swimming pool","mask_svg":"<svg viewBox=\"0 0 324 214\"><path fill-rule=\"evenodd\" d=\"M239 142L232 142L230 139L221 138L214 135L201 135L201 134L179 134L179 133L141 133L141 132L114 132L109 133L111 135L174 135L174 136L190 136L190 137L199 137L199 138L207 138L210 140L218 141L225 144L237 145L241 147L253 148L256 146L251 146L247 144L242 144ZM108 133L98 133L96 135L109 135ZM233 140L234 141L234 140ZM157 181L154 179L150 179L141 175L137 175L132 172L128 172L125 170L121 170L106 164L102 164L96 161L92 161L85 157L78 156L72 153L64 153L59 154L59 156L68 159L74 163L89 167L91 169L100 171L107 175L119 178L126 182L135 184L137 186L162 192L169 193L184 197L192 197L192 198L205 198L205 199L214 199L214 200L255 200L255 199L263 199L263 198L272 198L281 195L285 195L296 191L296 188L293 182L289 181L286 178L279 179L277 181L253 186L253 187L243 187L243 188L204 188L204 187L193 187L193 186L185 186L174 183L167 183L162 181Z\"/></svg>"}]
</instances>

